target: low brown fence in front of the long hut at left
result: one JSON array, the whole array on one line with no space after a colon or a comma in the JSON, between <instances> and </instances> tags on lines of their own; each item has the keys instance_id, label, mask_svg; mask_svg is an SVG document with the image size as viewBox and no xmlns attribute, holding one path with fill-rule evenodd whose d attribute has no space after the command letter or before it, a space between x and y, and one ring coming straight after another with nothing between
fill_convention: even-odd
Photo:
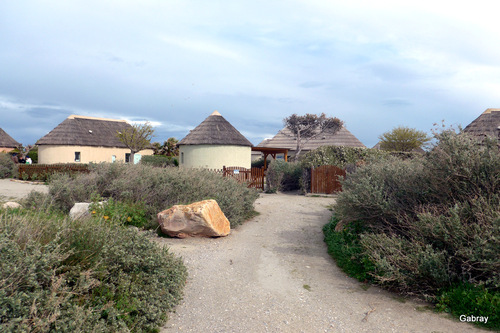
<instances>
[{"instance_id":1,"label":"low brown fence in front of the long hut at left","mask_svg":"<svg viewBox=\"0 0 500 333\"><path fill-rule=\"evenodd\" d=\"M90 172L87 164L19 164L19 179L47 180L54 173Z\"/></svg>"}]
</instances>

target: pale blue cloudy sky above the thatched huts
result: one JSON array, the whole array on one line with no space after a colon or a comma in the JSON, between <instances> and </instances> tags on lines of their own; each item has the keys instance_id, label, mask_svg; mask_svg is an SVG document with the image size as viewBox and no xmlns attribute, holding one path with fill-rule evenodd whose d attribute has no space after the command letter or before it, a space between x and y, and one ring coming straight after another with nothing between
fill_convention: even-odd
<instances>
[{"instance_id":1,"label":"pale blue cloudy sky above the thatched huts","mask_svg":"<svg viewBox=\"0 0 500 333\"><path fill-rule=\"evenodd\" d=\"M495 1L0 2L0 128L24 145L71 114L182 139L218 110L254 145L338 117L367 147L397 126L500 107Z\"/></svg>"}]
</instances>

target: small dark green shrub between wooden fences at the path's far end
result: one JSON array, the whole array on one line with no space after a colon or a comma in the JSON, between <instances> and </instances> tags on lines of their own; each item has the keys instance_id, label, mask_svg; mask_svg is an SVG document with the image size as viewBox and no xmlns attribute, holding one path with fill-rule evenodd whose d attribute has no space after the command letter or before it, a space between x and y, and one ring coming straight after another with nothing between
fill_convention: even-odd
<instances>
[{"instance_id":1,"label":"small dark green shrub between wooden fences at the path's far end","mask_svg":"<svg viewBox=\"0 0 500 333\"><path fill-rule=\"evenodd\" d=\"M298 190L301 188L301 176L300 163L274 160L266 171L266 192Z\"/></svg>"}]
</instances>

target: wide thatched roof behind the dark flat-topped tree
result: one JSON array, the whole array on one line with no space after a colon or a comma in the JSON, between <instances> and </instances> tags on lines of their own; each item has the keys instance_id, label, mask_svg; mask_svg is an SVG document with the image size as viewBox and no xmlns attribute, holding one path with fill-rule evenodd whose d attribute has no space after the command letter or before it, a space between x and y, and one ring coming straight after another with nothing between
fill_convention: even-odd
<instances>
[{"instance_id":1,"label":"wide thatched roof behind the dark flat-topped tree","mask_svg":"<svg viewBox=\"0 0 500 333\"><path fill-rule=\"evenodd\" d=\"M321 146L345 146L366 148L351 132L342 126L336 133L324 132L304 144L302 152L314 150ZM288 128L283 128L272 139L266 139L257 147L288 148L294 152L297 148L297 140Z\"/></svg>"}]
</instances>

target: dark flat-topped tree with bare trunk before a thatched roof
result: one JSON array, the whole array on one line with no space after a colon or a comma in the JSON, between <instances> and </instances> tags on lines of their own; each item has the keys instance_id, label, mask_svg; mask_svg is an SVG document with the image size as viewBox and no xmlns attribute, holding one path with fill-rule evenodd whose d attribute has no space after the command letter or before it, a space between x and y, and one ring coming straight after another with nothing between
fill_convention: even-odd
<instances>
[{"instance_id":1,"label":"dark flat-topped tree with bare trunk before a thatched roof","mask_svg":"<svg viewBox=\"0 0 500 333\"><path fill-rule=\"evenodd\" d=\"M335 134L343 125L343 122L337 117L327 117L324 113L319 116L310 113L305 116L292 114L283 119L283 122L285 127L291 131L291 136L297 141L295 161L298 160L302 148L309 140L323 133Z\"/></svg>"}]
</instances>

